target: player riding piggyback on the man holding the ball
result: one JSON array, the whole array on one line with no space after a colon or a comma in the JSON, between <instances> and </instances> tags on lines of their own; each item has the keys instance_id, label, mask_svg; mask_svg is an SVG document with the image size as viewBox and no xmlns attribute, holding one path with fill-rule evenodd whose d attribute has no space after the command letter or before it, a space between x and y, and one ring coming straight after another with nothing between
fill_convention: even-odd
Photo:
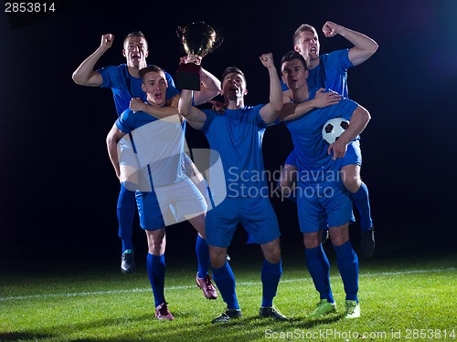
<instances>
[{"instance_id":1,"label":"player riding piggyback on the man holding the ball","mask_svg":"<svg viewBox=\"0 0 457 342\"><path fill-rule=\"evenodd\" d=\"M306 60L309 67L308 85L312 88L327 88L336 91L347 98L347 69L356 67L365 62L377 50L377 43L368 36L350 30L344 26L327 21L323 27L324 36L344 36L354 47L336 50L329 54L319 54L320 43L313 26L303 24L293 34L293 48ZM284 102L290 102L287 87L282 83ZM317 94L319 96L319 93ZM369 257L375 249L374 228L371 220L371 211L367 185L361 180L360 168L362 154L359 144L360 137L356 137L348 147L343 159L344 183L351 194L352 201L360 213L360 227L362 230L361 252ZM282 171L280 185L287 192L292 185L293 173L296 171L295 151L287 158Z\"/></svg>"}]
</instances>

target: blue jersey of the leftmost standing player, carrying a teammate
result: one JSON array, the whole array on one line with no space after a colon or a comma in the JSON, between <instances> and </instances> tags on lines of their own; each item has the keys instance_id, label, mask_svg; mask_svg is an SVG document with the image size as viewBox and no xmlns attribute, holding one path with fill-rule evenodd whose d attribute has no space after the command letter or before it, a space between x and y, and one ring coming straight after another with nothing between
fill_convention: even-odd
<instances>
[{"instance_id":1,"label":"blue jersey of the leftmost standing player, carrying a teammate","mask_svg":"<svg viewBox=\"0 0 457 342\"><path fill-rule=\"evenodd\" d=\"M143 179L139 183L148 185L146 190L140 188L140 191L151 191L153 186L165 186L187 178L183 160L186 125L177 114L156 119L143 111L134 113L126 109L115 124L123 133L131 133L134 140L136 163L131 166L140 170L139 176ZM129 136L122 140L119 144L121 156L122 149L133 149ZM131 160L120 162L132 164Z\"/></svg>"}]
</instances>

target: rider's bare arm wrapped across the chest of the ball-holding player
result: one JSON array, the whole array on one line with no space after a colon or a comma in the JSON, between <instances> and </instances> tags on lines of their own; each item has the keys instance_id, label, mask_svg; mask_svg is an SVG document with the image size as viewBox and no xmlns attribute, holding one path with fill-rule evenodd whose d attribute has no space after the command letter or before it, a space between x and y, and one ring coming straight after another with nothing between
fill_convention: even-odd
<instances>
[{"instance_id":1,"label":"rider's bare arm wrapped across the chest of the ball-holding player","mask_svg":"<svg viewBox=\"0 0 457 342\"><path fill-rule=\"evenodd\" d=\"M286 100L286 98L287 97L284 97L284 100ZM304 101L302 103L292 103L289 98L288 103L284 103L278 119L281 121L297 119L307 114L312 109L335 105L340 100L341 95L337 92L333 90L326 91L324 88L320 88L316 91L315 97L309 101Z\"/></svg>"}]
</instances>

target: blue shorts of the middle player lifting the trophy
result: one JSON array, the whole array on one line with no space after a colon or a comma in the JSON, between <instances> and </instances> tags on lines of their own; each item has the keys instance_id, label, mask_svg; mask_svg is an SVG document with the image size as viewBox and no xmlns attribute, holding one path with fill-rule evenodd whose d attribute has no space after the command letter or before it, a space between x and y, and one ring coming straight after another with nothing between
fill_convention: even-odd
<instances>
[{"instance_id":1,"label":"blue shorts of the middle player lifting the trophy","mask_svg":"<svg viewBox=\"0 0 457 342\"><path fill-rule=\"evenodd\" d=\"M227 197L207 212L207 244L228 247L239 223L248 233L247 244L268 244L281 235L269 198Z\"/></svg>"}]
</instances>

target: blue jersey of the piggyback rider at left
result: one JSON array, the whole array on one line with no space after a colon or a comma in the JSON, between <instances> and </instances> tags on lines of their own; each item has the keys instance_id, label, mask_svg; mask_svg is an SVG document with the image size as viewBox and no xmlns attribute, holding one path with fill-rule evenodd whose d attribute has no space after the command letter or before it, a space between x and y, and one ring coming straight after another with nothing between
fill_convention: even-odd
<instances>
[{"instance_id":1,"label":"blue jersey of the piggyback rider at left","mask_svg":"<svg viewBox=\"0 0 457 342\"><path fill-rule=\"evenodd\" d=\"M129 108L132 98L142 98L143 101L146 101L146 93L142 89L142 79L133 78L126 64L121 64L118 67L102 67L97 71L103 78L101 88L112 88L112 97L118 116L121 116L122 112ZM166 72L165 78L168 83L166 99L170 99L179 94L179 90L175 88L173 78Z\"/></svg>"}]
</instances>

